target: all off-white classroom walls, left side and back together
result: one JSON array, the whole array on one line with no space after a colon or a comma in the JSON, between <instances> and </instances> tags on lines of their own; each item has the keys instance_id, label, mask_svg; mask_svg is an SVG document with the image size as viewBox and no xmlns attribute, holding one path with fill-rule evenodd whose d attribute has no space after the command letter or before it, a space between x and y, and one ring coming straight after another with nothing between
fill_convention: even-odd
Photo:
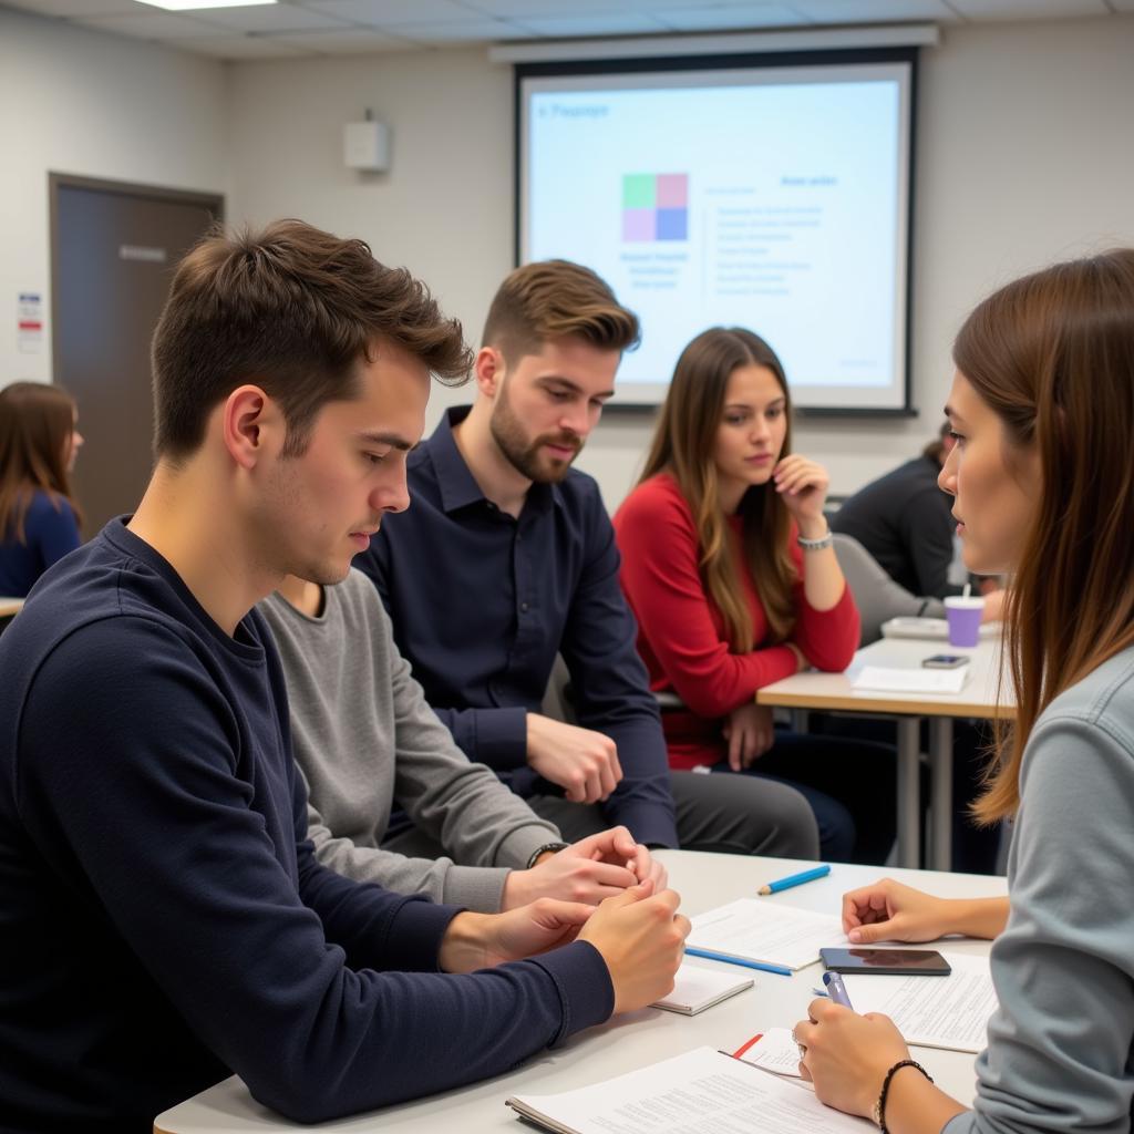
<instances>
[{"instance_id":1,"label":"all off-white classroom walls, left side and back together","mask_svg":"<svg viewBox=\"0 0 1134 1134\"><path fill-rule=\"evenodd\" d=\"M949 342L982 294L1056 257L1134 244L1132 59L1134 17L950 26L923 52L912 323L922 416L799 423L796 447L827 462L833 491L933 433ZM342 124L367 107L393 132L386 175L341 162ZM362 236L429 281L475 338L513 263L511 121L510 68L482 46L219 64L0 11L0 383L50 379L49 345L17 352L14 312L19 290L50 298L49 169L225 192L230 219L298 215ZM467 396L439 390L430 425ZM611 507L649 434L649 415L608 412L581 457Z\"/></svg>"}]
</instances>

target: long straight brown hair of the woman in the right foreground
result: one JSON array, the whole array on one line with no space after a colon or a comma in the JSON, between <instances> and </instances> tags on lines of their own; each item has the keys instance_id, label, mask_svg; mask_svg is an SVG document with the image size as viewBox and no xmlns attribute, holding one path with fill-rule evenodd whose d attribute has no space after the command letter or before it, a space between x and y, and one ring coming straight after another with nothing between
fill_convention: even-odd
<instances>
[{"instance_id":1,"label":"long straight brown hair of the woman in the right foreground","mask_svg":"<svg viewBox=\"0 0 1134 1134\"><path fill-rule=\"evenodd\" d=\"M998 730L973 809L992 822L1019 805L1040 713L1134 644L1134 249L1009 284L968 316L953 354L1004 424L1008 467L1029 449L1042 477L1006 612L1016 721Z\"/></svg>"}]
</instances>

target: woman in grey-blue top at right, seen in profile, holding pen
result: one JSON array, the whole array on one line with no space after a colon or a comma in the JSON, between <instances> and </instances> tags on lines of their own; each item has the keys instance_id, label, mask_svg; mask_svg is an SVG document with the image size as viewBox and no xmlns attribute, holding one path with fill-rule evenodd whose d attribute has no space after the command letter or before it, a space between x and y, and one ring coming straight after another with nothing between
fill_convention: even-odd
<instances>
[{"instance_id":1,"label":"woman in grey-blue top at right, seen in profile, holding pen","mask_svg":"<svg viewBox=\"0 0 1134 1134\"><path fill-rule=\"evenodd\" d=\"M853 941L996 938L999 1007L973 1110L885 1016L814 1001L796 1025L824 1102L891 1134L1129 1131L1134 1115L1134 251L997 291L954 347L941 472L965 564L1015 573L1001 730L979 819L1015 815L1008 897L892 882L844 898Z\"/></svg>"}]
</instances>

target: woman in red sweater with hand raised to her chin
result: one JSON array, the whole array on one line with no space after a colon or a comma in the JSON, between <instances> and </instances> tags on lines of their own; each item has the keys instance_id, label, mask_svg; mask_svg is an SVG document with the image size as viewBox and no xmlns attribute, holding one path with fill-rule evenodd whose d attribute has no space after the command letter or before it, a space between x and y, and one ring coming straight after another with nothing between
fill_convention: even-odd
<instances>
[{"instance_id":1,"label":"woman in red sweater with hand raised to her chin","mask_svg":"<svg viewBox=\"0 0 1134 1134\"><path fill-rule=\"evenodd\" d=\"M674 768L790 782L811 803L824 858L883 862L894 841L894 750L772 726L756 689L841 670L858 611L823 516L826 471L790 451L779 358L742 328L682 353L645 472L615 516L621 583Z\"/></svg>"}]
</instances>

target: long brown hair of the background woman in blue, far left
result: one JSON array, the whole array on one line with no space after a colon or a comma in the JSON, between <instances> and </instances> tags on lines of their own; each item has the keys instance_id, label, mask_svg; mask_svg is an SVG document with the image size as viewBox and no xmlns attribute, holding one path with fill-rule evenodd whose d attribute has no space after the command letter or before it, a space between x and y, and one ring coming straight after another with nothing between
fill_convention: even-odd
<instances>
[{"instance_id":1,"label":"long brown hair of the background woman in blue, far left","mask_svg":"<svg viewBox=\"0 0 1134 1134\"><path fill-rule=\"evenodd\" d=\"M0 390L0 539L26 542L24 521L36 490L58 509L71 494L67 455L75 432L75 401L58 386L12 382Z\"/></svg>"}]
</instances>

